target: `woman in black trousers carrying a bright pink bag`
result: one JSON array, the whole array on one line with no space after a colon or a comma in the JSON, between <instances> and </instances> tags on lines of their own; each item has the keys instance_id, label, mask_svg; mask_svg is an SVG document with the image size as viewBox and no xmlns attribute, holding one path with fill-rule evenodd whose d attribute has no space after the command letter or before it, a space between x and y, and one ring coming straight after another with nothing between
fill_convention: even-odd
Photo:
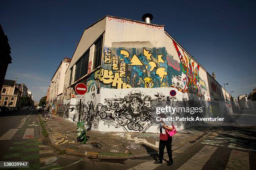
<instances>
[{"instance_id":1,"label":"woman in black trousers carrying a bright pink bag","mask_svg":"<svg viewBox=\"0 0 256 170\"><path fill-rule=\"evenodd\" d=\"M161 118L165 118L166 116L161 113L159 115ZM166 134L165 130L170 130L172 131L173 129L170 128L172 127L171 122L169 121L160 121L159 129L160 133ZM164 157L164 148L166 147L168 157L169 157L169 162L167 163L167 166L171 166L173 164L173 159L172 159L172 137L168 136L167 140L160 140L159 141L159 160L156 160L154 163L155 164L162 164L163 163L163 157Z\"/></svg>"}]
</instances>

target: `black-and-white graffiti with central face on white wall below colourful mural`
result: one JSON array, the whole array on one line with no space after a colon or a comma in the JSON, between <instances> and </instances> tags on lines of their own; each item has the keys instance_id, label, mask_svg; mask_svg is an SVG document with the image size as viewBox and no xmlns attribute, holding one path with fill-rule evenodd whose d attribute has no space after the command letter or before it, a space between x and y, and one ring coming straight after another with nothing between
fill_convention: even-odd
<instances>
[{"instance_id":1,"label":"black-and-white graffiti with central face on white wall below colourful mural","mask_svg":"<svg viewBox=\"0 0 256 170\"><path fill-rule=\"evenodd\" d=\"M121 126L125 131L145 132L152 124L159 123L155 110L164 99L162 94L152 100L151 96L132 90L123 98L105 99L106 105L97 104L97 112L101 120L110 122L115 128Z\"/></svg>"}]
</instances>

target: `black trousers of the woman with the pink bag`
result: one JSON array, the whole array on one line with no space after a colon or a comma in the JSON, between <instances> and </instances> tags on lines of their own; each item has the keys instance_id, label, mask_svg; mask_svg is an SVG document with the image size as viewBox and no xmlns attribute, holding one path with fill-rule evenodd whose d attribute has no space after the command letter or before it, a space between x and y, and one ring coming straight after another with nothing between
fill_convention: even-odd
<instances>
[{"instance_id":1,"label":"black trousers of the woman with the pink bag","mask_svg":"<svg viewBox=\"0 0 256 170\"><path fill-rule=\"evenodd\" d=\"M169 137L167 140L160 140L159 142L159 160L163 160L164 157L164 148L166 147L169 161L172 162L172 137Z\"/></svg>"}]
</instances>

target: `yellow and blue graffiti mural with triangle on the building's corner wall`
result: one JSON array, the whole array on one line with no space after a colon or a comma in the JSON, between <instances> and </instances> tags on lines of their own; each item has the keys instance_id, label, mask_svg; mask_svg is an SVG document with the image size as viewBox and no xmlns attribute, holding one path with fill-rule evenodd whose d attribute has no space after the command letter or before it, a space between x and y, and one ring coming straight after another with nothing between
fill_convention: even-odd
<instances>
[{"instance_id":1,"label":"yellow and blue graffiti mural with triangle on the building's corner wall","mask_svg":"<svg viewBox=\"0 0 256 170\"><path fill-rule=\"evenodd\" d=\"M94 74L102 87L169 87L165 47L108 48L104 47L104 62Z\"/></svg>"}]
</instances>

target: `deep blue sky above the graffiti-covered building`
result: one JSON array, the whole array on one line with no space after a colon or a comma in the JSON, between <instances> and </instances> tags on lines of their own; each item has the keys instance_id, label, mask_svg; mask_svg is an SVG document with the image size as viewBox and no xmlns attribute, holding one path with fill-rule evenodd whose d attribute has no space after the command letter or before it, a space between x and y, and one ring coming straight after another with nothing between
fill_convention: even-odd
<instances>
[{"instance_id":1,"label":"deep blue sky above the graffiti-covered building","mask_svg":"<svg viewBox=\"0 0 256 170\"><path fill-rule=\"evenodd\" d=\"M0 23L13 63L6 79L25 83L35 101L46 95L64 57L72 57L84 28L105 15L141 20L169 32L233 96L256 87L256 2L215 1L0 1Z\"/></svg>"}]
</instances>

